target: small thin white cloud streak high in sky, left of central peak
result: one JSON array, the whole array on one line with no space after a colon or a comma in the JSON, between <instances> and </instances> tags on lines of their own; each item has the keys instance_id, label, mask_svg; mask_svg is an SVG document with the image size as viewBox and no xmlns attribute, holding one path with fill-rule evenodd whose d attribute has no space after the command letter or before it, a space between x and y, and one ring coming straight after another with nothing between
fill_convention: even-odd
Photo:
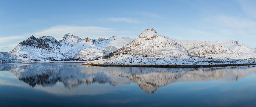
<instances>
[{"instance_id":1,"label":"small thin white cloud streak high in sky, left of central peak","mask_svg":"<svg viewBox=\"0 0 256 107\"><path fill-rule=\"evenodd\" d=\"M131 18L103 18L99 19L99 21L105 21L105 22L127 22L127 23L139 23L137 19L131 19Z\"/></svg>"}]
</instances>

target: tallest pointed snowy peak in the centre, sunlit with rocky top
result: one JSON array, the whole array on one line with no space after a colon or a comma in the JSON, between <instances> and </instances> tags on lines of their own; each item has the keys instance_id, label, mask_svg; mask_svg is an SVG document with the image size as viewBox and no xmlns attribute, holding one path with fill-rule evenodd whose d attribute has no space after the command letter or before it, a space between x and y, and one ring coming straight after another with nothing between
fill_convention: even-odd
<instances>
[{"instance_id":1,"label":"tallest pointed snowy peak in the centre, sunlit with rocky top","mask_svg":"<svg viewBox=\"0 0 256 107\"><path fill-rule=\"evenodd\" d=\"M149 57L189 57L184 47L169 37L157 34L153 28L146 29L130 44L113 53Z\"/></svg>"}]
</instances>

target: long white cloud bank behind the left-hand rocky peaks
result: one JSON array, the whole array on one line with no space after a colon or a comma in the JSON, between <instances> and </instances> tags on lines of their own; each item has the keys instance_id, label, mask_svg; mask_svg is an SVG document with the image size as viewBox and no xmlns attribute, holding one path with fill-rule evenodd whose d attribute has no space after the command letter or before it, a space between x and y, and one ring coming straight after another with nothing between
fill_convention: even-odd
<instances>
[{"instance_id":1,"label":"long white cloud bank behind the left-hand rocky peaks","mask_svg":"<svg viewBox=\"0 0 256 107\"><path fill-rule=\"evenodd\" d=\"M85 39L86 37L97 39L102 37L108 38L115 34L118 36L122 33L127 33L127 31L114 31L112 28L93 26L55 26L42 31L36 31L30 35L34 35L35 37L53 36L57 40L62 40L63 36L68 33L77 35L82 39Z\"/></svg>"}]
</instances>

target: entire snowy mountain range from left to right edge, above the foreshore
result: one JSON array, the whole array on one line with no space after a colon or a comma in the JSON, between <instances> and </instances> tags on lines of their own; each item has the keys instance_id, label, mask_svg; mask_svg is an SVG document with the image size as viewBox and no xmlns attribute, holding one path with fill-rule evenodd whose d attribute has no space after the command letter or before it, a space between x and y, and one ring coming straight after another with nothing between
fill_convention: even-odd
<instances>
[{"instance_id":1,"label":"entire snowy mountain range from left to right edge, above the foreshore","mask_svg":"<svg viewBox=\"0 0 256 107\"><path fill-rule=\"evenodd\" d=\"M31 61L80 59L93 60L109 54L104 48L115 46L118 50L109 56L133 54L151 58L218 58L255 59L256 48L235 40L199 41L176 40L157 34L155 29L146 29L137 38L110 37L108 39L81 39L65 34L62 40L54 37L30 36L19 43L13 51L0 53L0 61Z\"/></svg>"}]
</instances>

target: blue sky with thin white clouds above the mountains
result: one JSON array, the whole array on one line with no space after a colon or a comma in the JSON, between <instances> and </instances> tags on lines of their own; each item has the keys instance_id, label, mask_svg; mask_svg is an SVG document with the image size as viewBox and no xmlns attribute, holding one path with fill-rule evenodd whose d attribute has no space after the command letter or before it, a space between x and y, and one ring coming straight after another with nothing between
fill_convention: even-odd
<instances>
[{"instance_id":1,"label":"blue sky with thin white clouds above the mountains","mask_svg":"<svg viewBox=\"0 0 256 107\"><path fill-rule=\"evenodd\" d=\"M1 1L0 52L31 35L135 38L146 28L179 40L234 39L256 47L255 5L253 0Z\"/></svg>"}]
</instances>

